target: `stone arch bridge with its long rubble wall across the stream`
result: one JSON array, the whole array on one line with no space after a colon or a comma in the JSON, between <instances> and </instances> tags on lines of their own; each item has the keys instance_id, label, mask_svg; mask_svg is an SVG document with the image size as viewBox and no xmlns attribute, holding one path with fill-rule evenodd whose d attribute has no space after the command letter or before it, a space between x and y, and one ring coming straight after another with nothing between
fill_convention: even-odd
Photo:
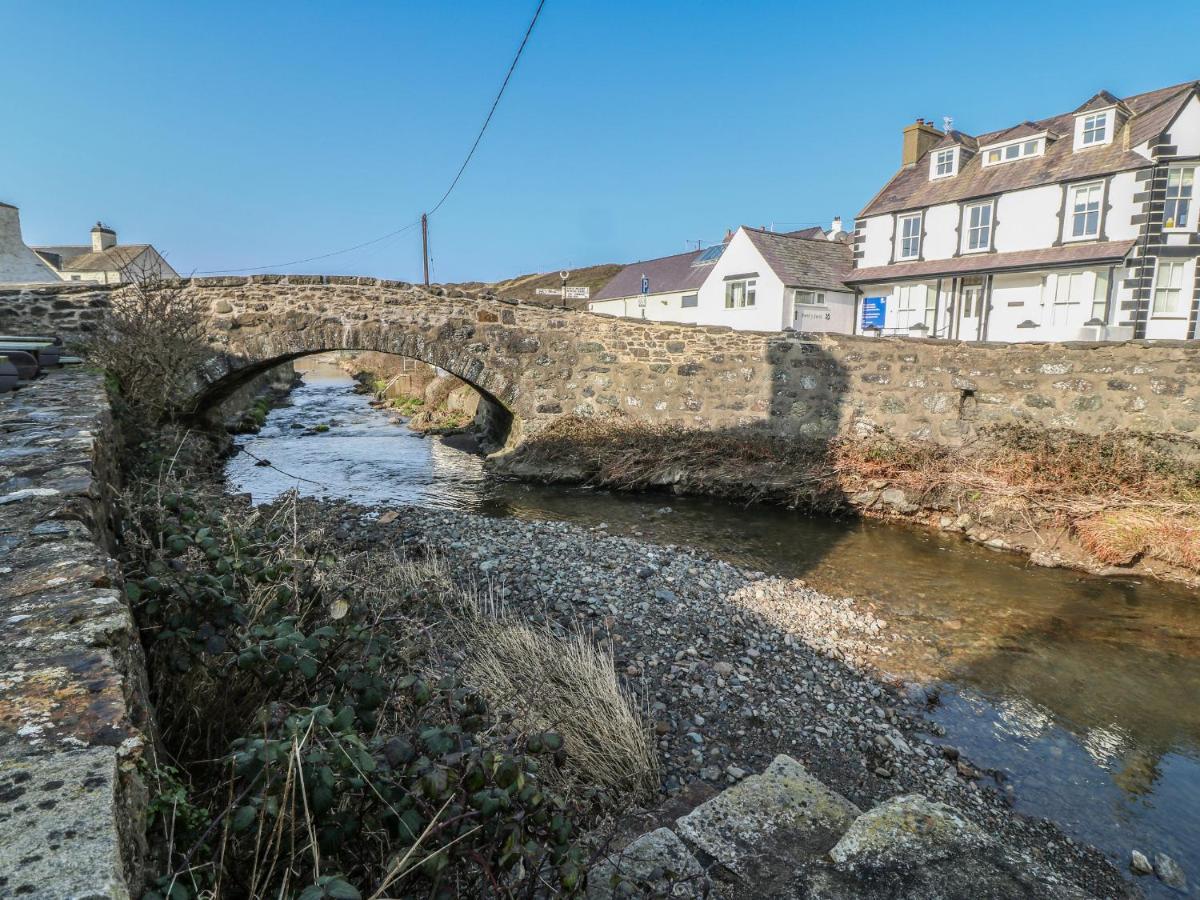
<instances>
[{"instance_id":1,"label":"stone arch bridge with its long rubble wall across the stream","mask_svg":"<svg viewBox=\"0 0 1200 900\"><path fill-rule=\"evenodd\" d=\"M563 415L830 437L882 427L959 443L990 421L1200 433L1196 342L968 344L622 319L491 293L343 276L192 278L210 311L210 407L326 350L438 366L511 416L509 444ZM127 288L125 288L127 289ZM85 332L121 288L0 287L0 332Z\"/></svg>"}]
</instances>

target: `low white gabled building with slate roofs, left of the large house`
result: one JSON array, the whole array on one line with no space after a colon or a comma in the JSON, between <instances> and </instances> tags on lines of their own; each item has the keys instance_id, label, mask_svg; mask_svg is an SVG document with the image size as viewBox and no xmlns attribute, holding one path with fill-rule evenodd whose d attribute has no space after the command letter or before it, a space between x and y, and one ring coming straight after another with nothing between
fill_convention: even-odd
<instances>
[{"instance_id":1,"label":"low white gabled building with slate roofs, left of the large house","mask_svg":"<svg viewBox=\"0 0 1200 900\"><path fill-rule=\"evenodd\" d=\"M854 294L842 283L850 268L851 250L838 220L828 233L779 234L743 226L707 250L625 266L588 308L752 331L850 334Z\"/></svg>"}]
</instances>

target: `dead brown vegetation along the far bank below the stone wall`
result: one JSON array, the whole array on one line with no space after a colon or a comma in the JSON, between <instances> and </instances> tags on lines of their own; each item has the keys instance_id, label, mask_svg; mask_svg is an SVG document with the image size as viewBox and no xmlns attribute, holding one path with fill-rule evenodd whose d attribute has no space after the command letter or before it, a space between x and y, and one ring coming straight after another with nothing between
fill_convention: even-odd
<instances>
[{"instance_id":1,"label":"dead brown vegetation along the far bank below the stone wall","mask_svg":"<svg viewBox=\"0 0 1200 900\"><path fill-rule=\"evenodd\" d=\"M1067 527L1105 563L1152 557L1200 570L1200 442L1180 434L1009 424L946 446L882 432L792 438L565 418L529 439L518 461L604 487L672 487L822 512L850 511L847 498L864 490L899 487L932 509Z\"/></svg>"}]
</instances>

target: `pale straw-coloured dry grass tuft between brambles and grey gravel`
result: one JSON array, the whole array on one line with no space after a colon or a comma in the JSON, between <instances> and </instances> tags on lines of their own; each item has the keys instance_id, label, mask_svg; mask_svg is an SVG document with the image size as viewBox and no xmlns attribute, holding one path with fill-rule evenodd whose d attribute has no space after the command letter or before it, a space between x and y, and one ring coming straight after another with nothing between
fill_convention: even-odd
<instances>
[{"instance_id":1,"label":"pale straw-coloured dry grass tuft between brambles and grey gravel","mask_svg":"<svg viewBox=\"0 0 1200 900\"><path fill-rule=\"evenodd\" d=\"M634 798L654 796L659 757L636 701L617 679L611 647L506 618L481 617L469 630L464 679L492 703L515 710L523 732L560 734L568 780Z\"/></svg>"}]
</instances>

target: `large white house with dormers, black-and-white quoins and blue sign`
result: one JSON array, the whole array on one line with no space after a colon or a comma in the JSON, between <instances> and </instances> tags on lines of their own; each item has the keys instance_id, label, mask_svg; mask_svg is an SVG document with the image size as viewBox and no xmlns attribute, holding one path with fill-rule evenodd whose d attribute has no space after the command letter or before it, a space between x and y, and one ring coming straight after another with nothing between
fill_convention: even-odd
<instances>
[{"instance_id":1,"label":"large white house with dormers, black-and-white quoins and blue sign","mask_svg":"<svg viewBox=\"0 0 1200 900\"><path fill-rule=\"evenodd\" d=\"M854 223L856 330L1194 338L1200 83L971 136L918 119Z\"/></svg>"}]
</instances>

